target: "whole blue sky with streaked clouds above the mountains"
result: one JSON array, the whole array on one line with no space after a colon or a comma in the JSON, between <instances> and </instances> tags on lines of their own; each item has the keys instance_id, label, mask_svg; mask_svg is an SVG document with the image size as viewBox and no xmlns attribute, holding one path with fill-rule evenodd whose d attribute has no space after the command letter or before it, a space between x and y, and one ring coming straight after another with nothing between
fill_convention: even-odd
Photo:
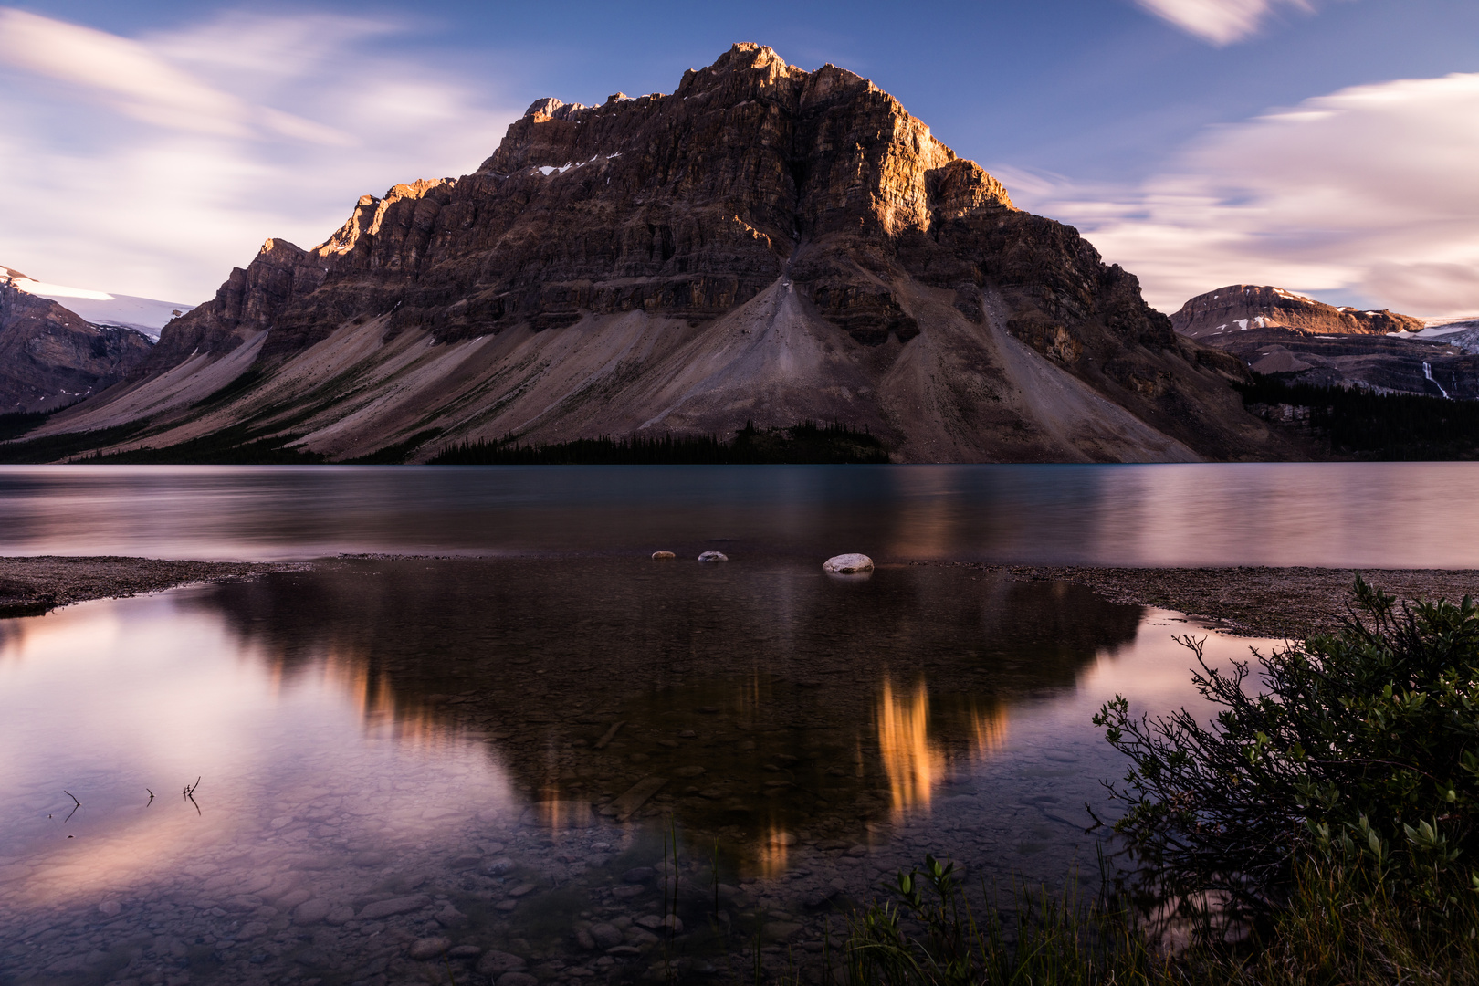
<instances>
[{"instance_id":1,"label":"whole blue sky with streaked clouds above the mountains","mask_svg":"<svg viewBox=\"0 0 1479 986\"><path fill-rule=\"evenodd\" d=\"M1479 312L1475 0L0 0L0 265L198 303L535 99L671 92L734 41L871 78L1161 310Z\"/></svg>"}]
</instances>

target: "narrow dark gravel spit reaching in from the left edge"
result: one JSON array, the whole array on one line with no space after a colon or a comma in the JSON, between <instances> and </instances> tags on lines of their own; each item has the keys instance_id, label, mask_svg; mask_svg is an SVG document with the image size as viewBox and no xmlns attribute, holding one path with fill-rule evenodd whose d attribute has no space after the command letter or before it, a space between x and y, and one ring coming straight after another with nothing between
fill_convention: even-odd
<instances>
[{"instance_id":1,"label":"narrow dark gravel spit reaching in from the left edge","mask_svg":"<svg viewBox=\"0 0 1479 986\"><path fill-rule=\"evenodd\" d=\"M308 568L300 562L169 562L136 557L0 557L0 616L40 615L87 599L155 593Z\"/></svg>"}]
</instances>

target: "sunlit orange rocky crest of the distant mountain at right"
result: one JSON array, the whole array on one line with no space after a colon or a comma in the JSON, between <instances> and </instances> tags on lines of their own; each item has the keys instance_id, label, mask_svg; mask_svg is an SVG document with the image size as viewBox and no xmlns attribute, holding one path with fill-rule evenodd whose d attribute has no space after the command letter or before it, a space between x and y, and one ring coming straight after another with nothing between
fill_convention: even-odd
<instances>
[{"instance_id":1,"label":"sunlit orange rocky crest of the distant mountain at right","mask_svg":"<svg viewBox=\"0 0 1479 986\"><path fill-rule=\"evenodd\" d=\"M1171 315L1182 336L1207 339L1257 328L1288 328L1325 336L1420 333L1423 319L1386 309L1336 307L1284 288L1231 284L1198 294Z\"/></svg>"}]
</instances>

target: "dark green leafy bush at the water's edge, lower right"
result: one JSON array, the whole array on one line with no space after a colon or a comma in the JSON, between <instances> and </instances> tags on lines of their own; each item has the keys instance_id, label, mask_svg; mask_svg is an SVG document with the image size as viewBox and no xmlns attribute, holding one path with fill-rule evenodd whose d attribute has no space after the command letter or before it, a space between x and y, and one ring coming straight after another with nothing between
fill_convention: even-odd
<instances>
[{"instance_id":1,"label":"dark green leafy bush at the water's edge, lower right","mask_svg":"<svg viewBox=\"0 0 1479 986\"><path fill-rule=\"evenodd\" d=\"M1336 634L1210 668L1183 637L1197 689L1222 707L1094 717L1130 757L1117 829L1188 890L1268 905L1306 853L1361 865L1404 899L1446 906L1479 890L1479 611L1395 599L1356 579ZM1254 687L1259 686L1259 687Z\"/></svg>"}]
</instances>

